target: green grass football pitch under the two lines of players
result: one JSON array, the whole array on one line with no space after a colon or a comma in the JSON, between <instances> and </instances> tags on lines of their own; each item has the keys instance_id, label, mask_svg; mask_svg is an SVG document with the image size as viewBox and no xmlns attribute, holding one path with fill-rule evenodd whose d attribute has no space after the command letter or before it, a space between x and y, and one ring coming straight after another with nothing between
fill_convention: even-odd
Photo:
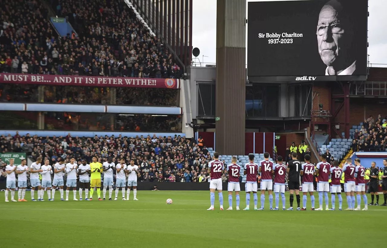
<instances>
[{"instance_id":1,"label":"green grass football pitch under the two lines of players","mask_svg":"<svg viewBox=\"0 0 387 248\"><path fill-rule=\"evenodd\" d=\"M46 194L45 202L31 202L27 192L28 202L4 202L4 192L0 192L3 230L0 246L355 248L385 245L387 207L383 206L370 206L368 211L310 211L308 197L308 211L254 211L252 200L250 211L236 211L234 196L234 210L220 211L216 194L216 210L207 211L208 191L138 191L139 201L133 201L133 192L129 201L122 201L121 196L120 192L117 201L94 198L92 202L75 202L70 191L70 200L62 202L57 191L54 202L48 202ZM286 207L289 207L288 196ZM226 192L223 197L227 208ZM167 198L173 200L171 205L166 204ZM346 208L346 198L343 198L343 208ZM243 209L246 207L244 192L240 199ZM383 195L379 203L382 199ZM265 208L269 208L267 195Z\"/></svg>"}]
</instances>

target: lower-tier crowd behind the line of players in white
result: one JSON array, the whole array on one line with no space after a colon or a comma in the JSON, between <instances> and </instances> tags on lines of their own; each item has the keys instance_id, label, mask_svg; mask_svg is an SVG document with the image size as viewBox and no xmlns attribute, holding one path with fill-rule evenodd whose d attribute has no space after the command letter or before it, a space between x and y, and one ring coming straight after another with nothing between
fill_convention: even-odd
<instances>
[{"instance_id":1,"label":"lower-tier crowd behind the line of players in white","mask_svg":"<svg viewBox=\"0 0 387 248\"><path fill-rule=\"evenodd\" d=\"M207 164L211 160L205 146L198 146L194 140L181 136L156 137L38 137L27 134L12 137L0 137L0 152L25 152L34 159L48 158L55 164L59 158L69 162L74 157L78 164L86 159L89 164L97 156L102 163L108 157L115 164L120 158L128 163L134 159L140 170L138 181L144 182L204 182L207 176ZM0 182L5 181L5 162L1 161ZM227 181L227 171L223 181Z\"/></svg>"}]
</instances>

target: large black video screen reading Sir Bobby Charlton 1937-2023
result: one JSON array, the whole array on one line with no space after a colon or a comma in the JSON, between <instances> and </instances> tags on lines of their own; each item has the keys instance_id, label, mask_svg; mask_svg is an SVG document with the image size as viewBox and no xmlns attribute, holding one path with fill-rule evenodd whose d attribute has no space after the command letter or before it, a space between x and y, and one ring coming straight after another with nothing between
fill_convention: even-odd
<instances>
[{"instance_id":1,"label":"large black video screen reading Sir Bobby Charlton 1937-2023","mask_svg":"<svg viewBox=\"0 0 387 248\"><path fill-rule=\"evenodd\" d=\"M249 81L365 80L367 18L367 0L249 2Z\"/></svg>"}]
</instances>

